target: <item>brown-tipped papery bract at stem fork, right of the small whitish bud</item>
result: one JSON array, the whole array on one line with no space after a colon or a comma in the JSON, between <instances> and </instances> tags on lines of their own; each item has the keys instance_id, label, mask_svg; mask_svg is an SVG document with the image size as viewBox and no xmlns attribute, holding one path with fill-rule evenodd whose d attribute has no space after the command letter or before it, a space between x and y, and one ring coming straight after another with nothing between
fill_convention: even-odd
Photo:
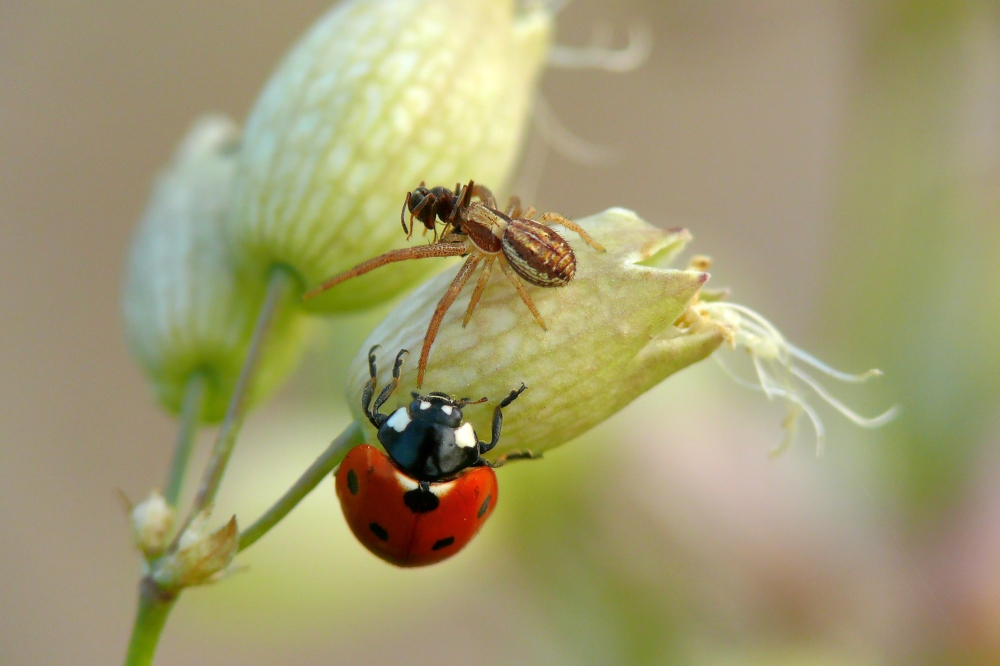
<instances>
[{"instance_id":1,"label":"brown-tipped papery bract at stem fork, right of the small whitish bud","mask_svg":"<svg viewBox=\"0 0 1000 666\"><path fill-rule=\"evenodd\" d=\"M160 559L150 576L162 589L214 583L223 576L239 551L236 516L212 534L207 534L209 512L198 514L181 535L177 551Z\"/></svg>"}]
</instances>

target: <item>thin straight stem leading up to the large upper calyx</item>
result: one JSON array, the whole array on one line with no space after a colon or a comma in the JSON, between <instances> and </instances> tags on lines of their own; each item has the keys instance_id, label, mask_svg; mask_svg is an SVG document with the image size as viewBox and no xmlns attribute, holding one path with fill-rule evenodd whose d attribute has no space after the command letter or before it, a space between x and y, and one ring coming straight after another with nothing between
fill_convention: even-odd
<instances>
[{"instance_id":1,"label":"thin straight stem leading up to the large upper calyx","mask_svg":"<svg viewBox=\"0 0 1000 666\"><path fill-rule=\"evenodd\" d=\"M294 282L294 278L287 269L281 266L275 266L271 269L264 303L261 306L260 313L257 315L253 337L250 338L250 348L247 350L247 357L243 361L240 376L236 380L233 395L229 398L229 407L226 409L226 416L222 421L222 426L219 428L219 435L215 440L212 456L209 458L208 466L205 468L205 474L202 477L201 486L198 488L198 494L195 495L194 503L191 506L191 513L188 514L187 521L184 523L185 527L178 530L171 550L176 547L176 542L180 538L180 535L183 534L186 526L190 525L194 517L215 500L215 495L219 492L222 475L226 471L229 456L236 445L236 435L239 434L240 427L243 425L243 418L246 416L247 400L254 375L256 374L257 362L260 360L261 350L267 341L268 333L271 331L278 306L285 299L289 288Z\"/></svg>"}]
</instances>

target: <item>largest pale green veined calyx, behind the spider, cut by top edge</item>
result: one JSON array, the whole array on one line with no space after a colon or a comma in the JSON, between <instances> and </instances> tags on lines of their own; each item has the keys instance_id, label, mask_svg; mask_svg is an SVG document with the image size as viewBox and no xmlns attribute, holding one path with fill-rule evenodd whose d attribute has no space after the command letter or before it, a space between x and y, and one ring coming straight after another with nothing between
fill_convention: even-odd
<instances>
[{"instance_id":1,"label":"largest pale green veined calyx, behind the spider, cut by top edge","mask_svg":"<svg viewBox=\"0 0 1000 666\"><path fill-rule=\"evenodd\" d=\"M420 181L500 188L544 65L552 11L515 0L347 0L285 58L247 121L230 233L252 280L314 286L406 245ZM306 306L367 308L442 260L351 280Z\"/></svg>"}]
</instances>

